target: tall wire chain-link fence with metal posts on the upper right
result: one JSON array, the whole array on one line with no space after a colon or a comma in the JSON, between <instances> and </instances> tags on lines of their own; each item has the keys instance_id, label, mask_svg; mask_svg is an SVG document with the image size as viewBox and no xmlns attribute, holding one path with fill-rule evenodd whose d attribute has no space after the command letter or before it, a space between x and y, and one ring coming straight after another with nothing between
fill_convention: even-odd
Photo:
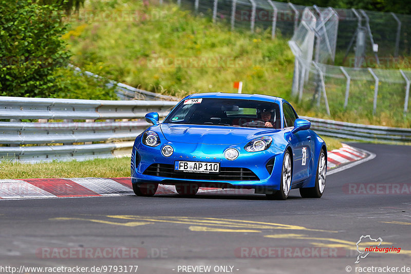
<instances>
[{"instance_id":1,"label":"tall wire chain-link fence with metal posts on the upper right","mask_svg":"<svg viewBox=\"0 0 411 274\"><path fill-rule=\"evenodd\" d=\"M408 112L411 71L369 67L392 67L398 56L410 54L411 15L271 0L170 1L231 29L270 30L273 39L290 38L296 57L292 94L300 101L328 114L381 117L383 112L403 119Z\"/></svg>"}]
</instances>

